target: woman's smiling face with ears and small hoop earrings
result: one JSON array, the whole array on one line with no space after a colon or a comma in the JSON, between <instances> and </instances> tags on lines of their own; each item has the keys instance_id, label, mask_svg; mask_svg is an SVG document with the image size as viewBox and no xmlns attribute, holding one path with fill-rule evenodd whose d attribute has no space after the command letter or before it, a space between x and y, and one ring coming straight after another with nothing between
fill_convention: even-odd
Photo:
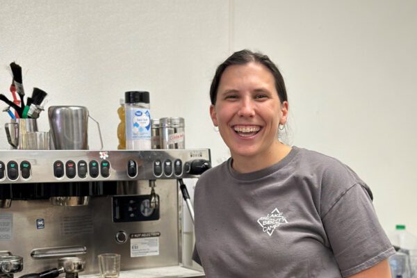
<instances>
[{"instance_id":1,"label":"woman's smiling face with ears and small hoop earrings","mask_svg":"<svg viewBox=\"0 0 417 278\"><path fill-rule=\"evenodd\" d=\"M274 76L264 65L231 65L222 74L210 114L234 158L273 155L288 102L281 104Z\"/></svg>"}]
</instances>

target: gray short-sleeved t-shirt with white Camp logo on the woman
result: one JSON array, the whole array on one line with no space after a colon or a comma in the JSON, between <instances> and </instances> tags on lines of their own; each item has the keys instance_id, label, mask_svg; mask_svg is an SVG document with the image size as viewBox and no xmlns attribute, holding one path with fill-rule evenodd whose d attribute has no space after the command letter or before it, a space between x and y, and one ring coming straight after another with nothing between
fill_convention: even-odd
<instances>
[{"instance_id":1,"label":"gray short-sleeved t-shirt with white Camp logo on the woman","mask_svg":"<svg viewBox=\"0 0 417 278\"><path fill-rule=\"evenodd\" d=\"M347 277L395 253L370 189L329 156L293 147L241 174L231 159L195 189L193 259L206 277Z\"/></svg>"}]
</instances>

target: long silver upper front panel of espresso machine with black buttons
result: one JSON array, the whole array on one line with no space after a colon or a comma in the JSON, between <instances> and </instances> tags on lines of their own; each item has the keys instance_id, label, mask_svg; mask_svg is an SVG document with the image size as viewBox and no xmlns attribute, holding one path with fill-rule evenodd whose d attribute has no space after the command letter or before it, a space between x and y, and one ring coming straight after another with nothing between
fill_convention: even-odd
<instances>
[{"instance_id":1,"label":"long silver upper front panel of espresso machine with black buttons","mask_svg":"<svg viewBox=\"0 0 417 278\"><path fill-rule=\"evenodd\" d=\"M210 150L0 150L0 161L0 183L187 179L206 170L196 161L209 165Z\"/></svg>"}]
</instances>

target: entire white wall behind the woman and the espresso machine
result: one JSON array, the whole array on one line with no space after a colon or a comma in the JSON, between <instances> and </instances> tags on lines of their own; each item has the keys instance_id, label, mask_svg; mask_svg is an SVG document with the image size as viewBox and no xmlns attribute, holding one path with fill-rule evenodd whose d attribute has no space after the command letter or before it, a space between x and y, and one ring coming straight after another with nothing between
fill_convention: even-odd
<instances>
[{"instance_id":1,"label":"entire white wall behind the woman and the espresso machine","mask_svg":"<svg viewBox=\"0 0 417 278\"><path fill-rule=\"evenodd\" d=\"M291 143L350 165L384 229L417 234L416 14L416 1L0 0L0 92L10 96L15 60L26 93L87 106L115 149L119 99L149 90L152 117L184 117L186 146L211 148L218 164L229 153L208 117L215 67L231 51L263 51L286 80ZM47 113L39 124L48 129Z\"/></svg>"}]
</instances>

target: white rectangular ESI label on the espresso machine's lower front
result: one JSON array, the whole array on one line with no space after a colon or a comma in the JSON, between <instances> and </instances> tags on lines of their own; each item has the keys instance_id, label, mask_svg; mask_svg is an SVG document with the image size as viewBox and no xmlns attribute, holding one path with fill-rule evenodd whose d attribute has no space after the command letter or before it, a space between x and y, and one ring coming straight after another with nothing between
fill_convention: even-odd
<instances>
[{"instance_id":1,"label":"white rectangular ESI label on the espresso machine's lower front","mask_svg":"<svg viewBox=\"0 0 417 278\"><path fill-rule=\"evenodd\" d=\"M131 257L158 256L161 233L131 234Z\"/></svg>"}]
</instances>

